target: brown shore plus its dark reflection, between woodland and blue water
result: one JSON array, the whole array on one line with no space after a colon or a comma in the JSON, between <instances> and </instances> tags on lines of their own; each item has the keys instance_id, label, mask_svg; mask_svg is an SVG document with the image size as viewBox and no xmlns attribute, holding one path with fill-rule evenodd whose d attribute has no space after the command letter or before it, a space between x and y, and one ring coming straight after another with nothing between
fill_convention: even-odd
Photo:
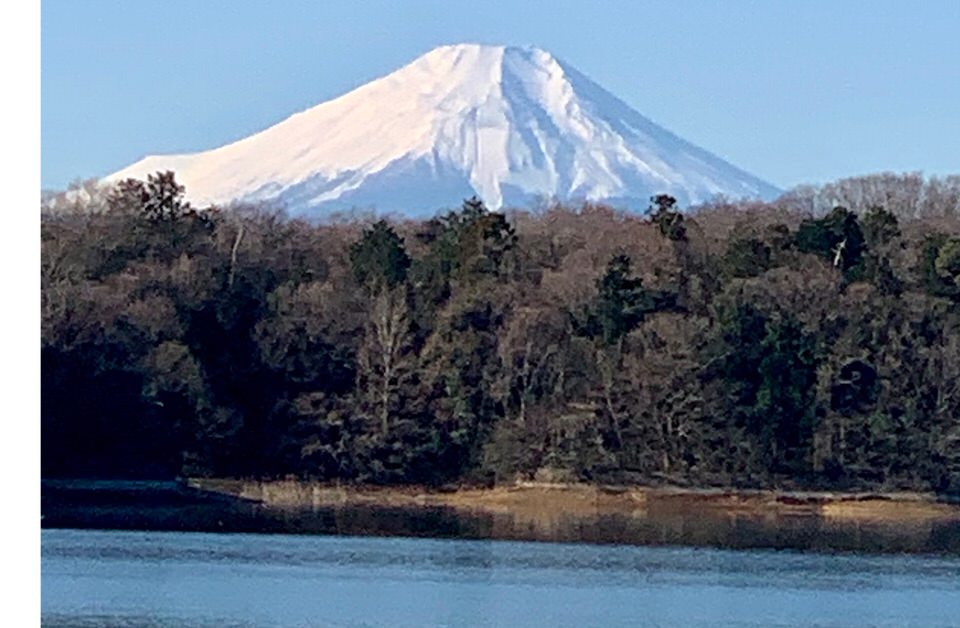
<instances>
[{"instance_id":1,"label":"brown shore plus its dark reflection, between woodland and blue water","mask_svg":"<svg viewBox=\"0 0 960 628\"><path fill-rule=\"evenodd\" d=\"M960 505L916 493L48 479L41 514L43 528L960 555Z\"/></svg>"}]
</instances>

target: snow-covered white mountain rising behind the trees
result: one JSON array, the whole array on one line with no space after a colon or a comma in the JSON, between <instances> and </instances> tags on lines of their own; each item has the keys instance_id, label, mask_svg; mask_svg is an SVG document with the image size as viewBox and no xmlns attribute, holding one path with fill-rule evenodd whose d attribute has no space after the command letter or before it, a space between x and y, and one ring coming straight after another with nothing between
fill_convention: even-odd
<instances>
[{"instance_id":1,"label":"snow-covered white mountain rising behind the trees","mask_svg":"<svg viewBox=\"0 0 960 628\"><path fill-rule=\"evenodd\" d=\"M425 214L477 194L646 207L777 194L657 126L549 53L454 45L245 139L150 156L112 182L173 170L194 205L279 202L293 215L374 208Z\"/></svg>"}]
</instances>

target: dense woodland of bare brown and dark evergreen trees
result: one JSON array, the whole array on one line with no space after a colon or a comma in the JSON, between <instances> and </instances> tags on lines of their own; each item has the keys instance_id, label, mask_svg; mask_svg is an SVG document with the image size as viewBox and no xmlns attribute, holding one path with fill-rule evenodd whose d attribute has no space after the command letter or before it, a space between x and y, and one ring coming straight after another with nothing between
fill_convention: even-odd
<instances>
[{"instance_id":1,"label":"dense woodland of bare brown and dark evergreen trees","mask_svg":"<svg viewBox=\"0 0 960 628\"><path fill-rule=\"evenodd\" d=\"M43 212L45 477L960 494L960 177L324 223L90 190Z\"/></svg>"}]
</instances>

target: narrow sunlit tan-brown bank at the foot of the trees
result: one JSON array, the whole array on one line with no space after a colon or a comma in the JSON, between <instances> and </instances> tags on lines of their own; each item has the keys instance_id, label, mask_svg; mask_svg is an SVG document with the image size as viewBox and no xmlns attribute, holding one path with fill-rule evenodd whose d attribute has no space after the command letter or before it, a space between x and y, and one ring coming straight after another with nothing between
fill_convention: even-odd
<instances>
[{"instance_id":1,"label":"narrow sunlit tan-brown bank at the foot of the trees","mask_svg":"<svg viewBox=\"0 0 960 628\"><path fill-rule=\"evenodd\" d=\"M298 481L191 479L189 486L281 509L376 506L446 507L509 515L531 522L556 517L643 517L651 511L776 519L818 517L852 524L960 522L960 505L925 493L836 493L772 490L619 487L523 482L454 491L422 487L336 486Z\"/></svg>"}]
</instances>

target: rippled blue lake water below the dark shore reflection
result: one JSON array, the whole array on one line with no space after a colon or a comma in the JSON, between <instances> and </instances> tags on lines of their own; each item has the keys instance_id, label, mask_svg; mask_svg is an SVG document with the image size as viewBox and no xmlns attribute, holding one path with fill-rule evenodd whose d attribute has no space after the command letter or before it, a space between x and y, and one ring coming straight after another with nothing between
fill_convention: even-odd
<instances>
[{"instance_id":1,"label":"rippled blue lake water below the dark shore reflection","mask_svg":"<svg viewBox=\"0 0 960 628\"><path fill-rule=\"evenodd\" d=\"M960 557L49 529L50 626L960 626Z\"/></svg>"}]
</instances>

